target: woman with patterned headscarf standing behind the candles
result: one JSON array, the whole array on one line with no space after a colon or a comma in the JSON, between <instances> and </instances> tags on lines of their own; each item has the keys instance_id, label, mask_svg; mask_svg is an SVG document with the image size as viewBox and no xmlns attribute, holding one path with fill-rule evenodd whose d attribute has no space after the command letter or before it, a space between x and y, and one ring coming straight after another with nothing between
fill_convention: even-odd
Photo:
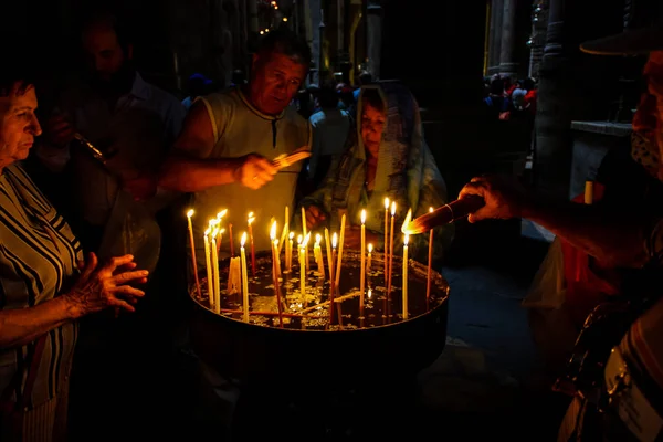
<instances>
[{"instance_id":1,"label":"woman with patterned headscarf standing behind the candles","mask_svg":"<svg viewBox=\"0 0 663 442\"><path fill-rule=\"evenodd\" d=\"M402 84L364 86L359 94L357 127L336 158L319 189L302 201L308 230L338 229L346 214L344 243L360 248L361 210L366 209L366 242L383 250L385 199L396 202L396 224L408 210L419 217L448 202L446 185L423 139L419 105ZM301 213L301 210L295 212ZM398 229L397 228L397 229ZM435 229L433 256L442 257L453 238L453 225ZM394 250L402 235L394 235ZM410 238L413 259L427 260L429 235Z\"/></svg>"}]
</instances>

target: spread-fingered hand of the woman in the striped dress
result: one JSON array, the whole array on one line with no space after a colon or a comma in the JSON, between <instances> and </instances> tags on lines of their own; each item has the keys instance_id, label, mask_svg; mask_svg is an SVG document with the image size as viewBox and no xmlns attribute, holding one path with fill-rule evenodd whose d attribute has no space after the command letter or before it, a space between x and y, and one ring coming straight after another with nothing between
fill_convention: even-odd
<instances>
[{"instance_id":1,"label":"spread-fingered hand of the woman in the striped dress","mask_svg":"<svg viewBox=\"0 0 663 442\"><path fill-rule=\"evenodd\" d=\"M73 315L81 317L107 307L135 312L136 304L145 292L131 287L130 283L146 283L148 272L135 270L134 256L124 255L110 259L99 265L94 253L84 264L83 271L74 287L66 296Z\"/></svg>"}]
</instances>

